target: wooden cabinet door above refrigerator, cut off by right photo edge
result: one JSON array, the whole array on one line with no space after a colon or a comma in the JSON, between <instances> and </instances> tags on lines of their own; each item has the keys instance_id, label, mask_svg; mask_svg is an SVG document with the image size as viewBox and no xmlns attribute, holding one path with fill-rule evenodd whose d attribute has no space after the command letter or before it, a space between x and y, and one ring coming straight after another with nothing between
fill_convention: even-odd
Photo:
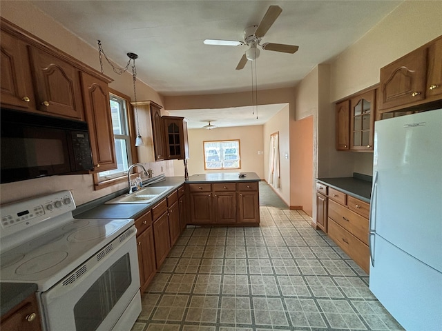
<instances>
[{"instance_id":1,"label":"wooden cabinet door above refrigerator, cut off by right photo edge","mask_svg":"<svg viewBox=\"0 0 442 331\"><path fill-rule=\"evenodd\" d=\"M442 95L442 37L428 48L427 97Z\"/></svg>"}]
</instances>

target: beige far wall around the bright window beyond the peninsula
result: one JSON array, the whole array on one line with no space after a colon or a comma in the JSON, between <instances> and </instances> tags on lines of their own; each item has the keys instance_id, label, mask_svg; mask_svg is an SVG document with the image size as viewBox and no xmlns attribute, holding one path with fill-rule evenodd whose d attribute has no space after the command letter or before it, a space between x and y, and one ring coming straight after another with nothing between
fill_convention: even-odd
<instances>
[{"instance_id":1,"label":"beige far wall around the bright window beyond the peninsula","mask_svg":"<svg viewBox=\"0 0 442 331\"><path fill-rule=\"evenodd\" d=\"M216 128L214 130L192 129L189 130L190 158L187 166L189 176L220 172L220 170L204 170L203 141L215 140L240 140L241 169L222 170L222 172L256 172L258 177L264 178L264 155L262 151L262 126L237 126L233 128ZM173 162L174 172L177 176L184 176L182 160Z\"/></svg>"}]
</instances>

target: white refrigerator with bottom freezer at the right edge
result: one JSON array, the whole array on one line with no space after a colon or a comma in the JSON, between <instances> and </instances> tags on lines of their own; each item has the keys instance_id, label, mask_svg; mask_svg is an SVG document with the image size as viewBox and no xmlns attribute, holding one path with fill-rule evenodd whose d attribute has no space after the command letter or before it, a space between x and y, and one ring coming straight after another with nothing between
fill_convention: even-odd
<instances>
[{"instance_id":1,"label":"white refrigerator with bottom freezer at the right edge","mask_svg":"<svg viewBox=\"0 0 442 331\"><path fill-rule=\"evenodd\" d=\"M370 290L405 330L442 330L442 110L376 121L370 207Z\"/></svg>"}]
</instances>

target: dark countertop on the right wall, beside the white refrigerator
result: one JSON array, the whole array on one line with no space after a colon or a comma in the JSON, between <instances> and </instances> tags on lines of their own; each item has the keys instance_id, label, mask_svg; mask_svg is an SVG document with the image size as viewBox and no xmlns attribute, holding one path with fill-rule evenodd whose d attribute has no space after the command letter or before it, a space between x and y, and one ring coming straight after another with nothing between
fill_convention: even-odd
<instances>
[{"instance_id":1,"label":"dark countertop on the right wall, beside the white refrigerator","mask_svg":"<svg viewBox=\"0 0 442 331\"><path fill-rule=\"evenodd\" d=\"M370 203L370 195L372 193L371 181L356 177L318 178L316 181Z\"/></svg>"}]
</instances>

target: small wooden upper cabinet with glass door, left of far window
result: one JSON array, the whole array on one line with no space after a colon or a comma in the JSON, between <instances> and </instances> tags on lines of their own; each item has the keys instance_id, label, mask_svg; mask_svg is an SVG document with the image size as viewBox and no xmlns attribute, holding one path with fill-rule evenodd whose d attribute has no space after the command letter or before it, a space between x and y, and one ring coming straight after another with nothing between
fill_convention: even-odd
<instances>
[{"instance_id":1,"label":"small wooden upper cabinet with glass door, left of far window","mask_svg":"<svg viewBox=\"0 0 442 331\"><path fill-rule=\"evenodd\" d=\"M166 159L189 159L187 120L184 117L163 116Z\"/></svg>"}]
</instances>

